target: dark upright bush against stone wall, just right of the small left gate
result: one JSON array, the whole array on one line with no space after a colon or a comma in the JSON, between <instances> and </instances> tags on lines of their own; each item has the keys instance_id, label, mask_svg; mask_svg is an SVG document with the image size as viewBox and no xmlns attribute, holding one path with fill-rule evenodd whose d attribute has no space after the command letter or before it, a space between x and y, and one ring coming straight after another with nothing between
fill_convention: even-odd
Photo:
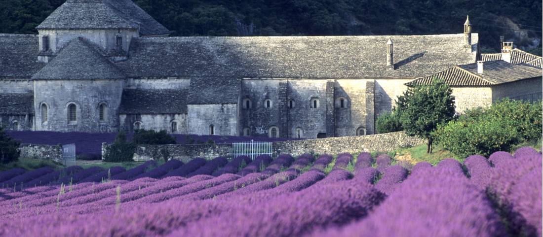
<instances>
[{"instance_id":1,"label":"dark upright bush against stone wall, just right of the small left gate","mask_svg":"<svg viewBox=\"0 0 543 237\"><path fill-rule=\"evenodd\" d=\"M115 137L115 142L107 146L104 153L105 162L125 162L134 161L134 152L136 144L127 142L127 136L124 132L119 132Z\"/></svg>"}]
</instances>

